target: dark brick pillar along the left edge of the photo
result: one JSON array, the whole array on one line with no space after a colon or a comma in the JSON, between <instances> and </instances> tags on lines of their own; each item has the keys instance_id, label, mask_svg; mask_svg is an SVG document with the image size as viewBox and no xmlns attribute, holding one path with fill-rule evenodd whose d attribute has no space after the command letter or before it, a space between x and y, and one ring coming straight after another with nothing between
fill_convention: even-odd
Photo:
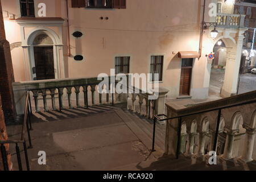
<instances>
[{"instance_id":1,"label":"dark brick pillar along the left edge of the photo","mask_svg":"<svg viewBox=\"0 0 256 182\"><path fill-rule=\"evenodd\" d=\"M16 118L14 94L13 94L13 63L11 61L10 44L6 40L3 23L2 5L0 1L0 92L2 108L5 114L5 122L14 122Z\"/></svg>"}]
</instances>

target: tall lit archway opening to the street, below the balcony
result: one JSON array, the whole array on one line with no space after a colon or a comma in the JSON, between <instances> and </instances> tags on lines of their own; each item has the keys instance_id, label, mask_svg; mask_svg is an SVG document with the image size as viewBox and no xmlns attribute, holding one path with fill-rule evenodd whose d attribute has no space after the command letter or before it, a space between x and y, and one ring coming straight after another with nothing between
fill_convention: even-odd
<instances>
[{"instance_id":1,"label":"tall lit archway opening to the street, below the balcony","mask_svg":"<svg viewBox=\"0 0 256 182\"><path fill-rule=\"evenodd\" d=\"M237 65L237 42L232 37L221 36L214 42L212 68L210 71L209 96L220 98L236 93L239 65Z\"/></svg>"}]
</instances>

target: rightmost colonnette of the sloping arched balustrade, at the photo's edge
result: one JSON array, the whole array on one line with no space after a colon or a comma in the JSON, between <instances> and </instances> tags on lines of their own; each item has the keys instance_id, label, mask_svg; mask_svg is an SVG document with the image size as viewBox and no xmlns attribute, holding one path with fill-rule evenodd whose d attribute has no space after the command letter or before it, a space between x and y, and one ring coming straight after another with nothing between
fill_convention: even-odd
<instances>
[{"instance_id":1,"label":"rightmost colonnette of the sloping arched balustrade, at the photo's edge","mask_svg":"<svg viewBox=\"0 0 256 182\"><path fill-rule=\"evenodd\" d=\"M245 125L243 125L243 127L246 129L246 134L245 134L245 144L243 147L243 154L242 154L241 160L247 163L253 160L251 156L253 155L255 129L251 129L250 127Z\"/></svg>"}]
</instances>

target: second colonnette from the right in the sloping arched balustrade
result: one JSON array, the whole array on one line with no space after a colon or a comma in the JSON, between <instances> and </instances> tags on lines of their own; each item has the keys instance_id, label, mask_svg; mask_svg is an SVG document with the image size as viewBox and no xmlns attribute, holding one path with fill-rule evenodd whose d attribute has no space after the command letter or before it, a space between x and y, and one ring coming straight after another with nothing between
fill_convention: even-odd
<instances>
[{"instance_id":1,"label":"second colonnette from the right in the sloping arched balustrade","mask_svg":"<svg viewBox=\"0 0 256 182\"><path fill-rule=\"evenodd\" d=\"M226 130L226 142L225 142L225 148L224 148L224 154L222 155L223 159L232 159L232 151L234 146L234 135L237 133L233 130Z\"/></svg>"}]
</instances>

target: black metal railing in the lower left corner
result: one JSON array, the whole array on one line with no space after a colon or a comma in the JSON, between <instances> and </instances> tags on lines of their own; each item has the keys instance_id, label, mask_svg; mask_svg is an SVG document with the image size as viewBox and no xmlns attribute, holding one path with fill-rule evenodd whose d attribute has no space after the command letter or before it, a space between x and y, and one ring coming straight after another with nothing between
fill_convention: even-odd
<instances>
[{"instance_id":1,"label":"black metal railing in the lower left corner","mask_svg":"<svg viewBox=\"0 0 256 182\"><path fill-rule=\"evenodd\" d=\"M21 155L20 155L21 151L19 148L19 144L23 145L23 151L24 151L24 157L26 160L27 171L30 171L30 164L29 164L29 160L28 160L27 148L32 148L31 135L30 135L30 131L32 130L31 113L32 113L32 109L31 109L31 102L30 102L30 93L27 92L20 140L0 140L2 163L3 163L3 169L5 171L10 170L8 159L7 159L6 144L15 144L15 151L16 151L16 157L17 157L19 171L23 170L22 159L21 159ZM27 137L28 137L28 143L29 143L28 147L27 147L26 137L25 137L26 131L27 131Z\"/></svg>"}]
</instances>

